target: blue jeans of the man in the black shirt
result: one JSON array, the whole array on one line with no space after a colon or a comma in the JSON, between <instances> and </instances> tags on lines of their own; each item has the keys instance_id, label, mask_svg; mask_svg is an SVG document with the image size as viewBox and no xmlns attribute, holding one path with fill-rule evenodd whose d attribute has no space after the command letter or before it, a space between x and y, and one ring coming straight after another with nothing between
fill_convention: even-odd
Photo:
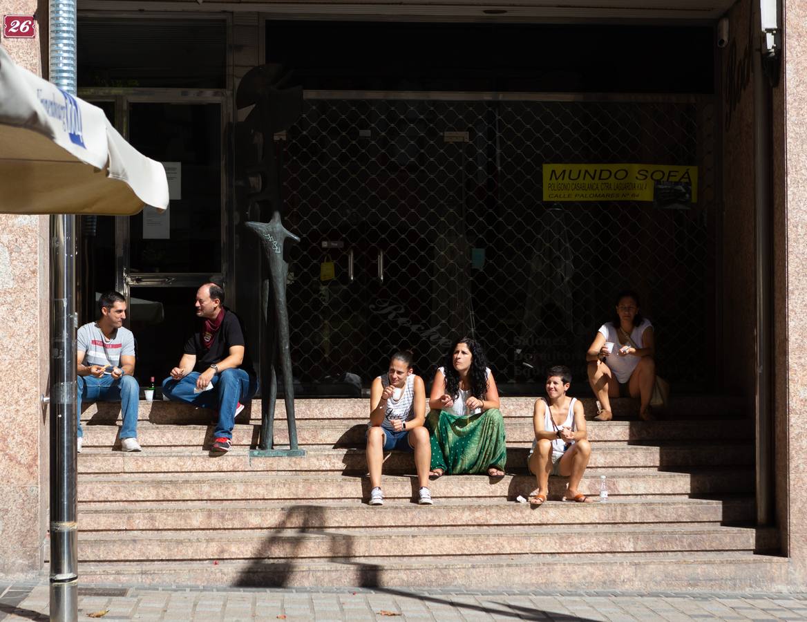
<instances>
[{"instance_id":1,"label":"blue jeans of the man in the black shirt","mask_svg":"<svg viewBox=\"0 0 807 622\"><path fill-rule=\"evenodd\" d=\"M257 378L247 374L244 369L224 369L221 374L213 376L211 390L194 393L196 380L200 375L198 371L192 371L180 380L169 376L162 381L162 394L174 402L186 402L196 407L219 411L219 421L213 438L232 439L236 406L239 402L252 399L257 393Z\"/></svg>"}]
</instances>

